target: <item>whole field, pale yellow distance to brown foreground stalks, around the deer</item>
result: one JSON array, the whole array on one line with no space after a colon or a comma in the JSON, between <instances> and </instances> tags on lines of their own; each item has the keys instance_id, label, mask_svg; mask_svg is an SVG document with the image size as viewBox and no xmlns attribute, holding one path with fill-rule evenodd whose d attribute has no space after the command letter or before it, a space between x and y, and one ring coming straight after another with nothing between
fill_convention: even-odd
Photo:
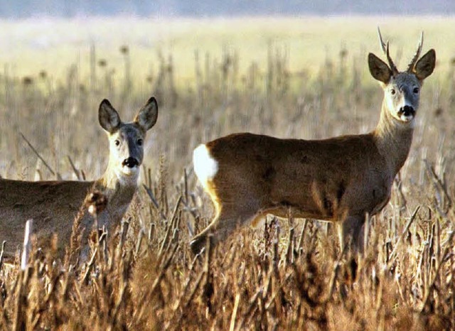
<instances>
[{"instance_id":1,"label":"whole field, pale yellow distance to brown foreground stalks, around the deer","mask_svg":"<svg viewBox=\"0 0 455 331\"><path fill-rule=\"evenodd\" d=\"M378 24L399 68L422 29L437 67L355 274L334 227L313 219L270 218L195 258L189 239L213 207L193 148L238 131L320 139L373 129L382 90L366 55L382 57ZM53 262L53 247L34 250L26 271L1 264L1 327L454 330L454 26L450 17L0 21L1 177L97 178L107 161L100 101L123 119L151 95L160 104L141 189L107 249L90 268Z\"/></svg>"}]
</instances>

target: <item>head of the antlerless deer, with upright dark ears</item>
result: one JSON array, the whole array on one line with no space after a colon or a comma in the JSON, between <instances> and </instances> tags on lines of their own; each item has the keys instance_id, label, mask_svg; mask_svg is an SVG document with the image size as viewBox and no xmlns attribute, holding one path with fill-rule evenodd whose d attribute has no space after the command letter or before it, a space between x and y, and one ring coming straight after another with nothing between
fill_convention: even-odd
<instances>
[{"instance_id":1,"label":"head of the antlerless deer, with upright dark ears","mask_svg":"<svg viewBox=\"0 0 455 331\"><path fill-rule=\"evenodd\" d=\"M158 118L158 104L151 97L134 121L124 123L107 100L102 100L98 112L100 125L109 137L109 170L123 181L137 180L144 159L144 139Z\"/></svg>"}]
</instances>

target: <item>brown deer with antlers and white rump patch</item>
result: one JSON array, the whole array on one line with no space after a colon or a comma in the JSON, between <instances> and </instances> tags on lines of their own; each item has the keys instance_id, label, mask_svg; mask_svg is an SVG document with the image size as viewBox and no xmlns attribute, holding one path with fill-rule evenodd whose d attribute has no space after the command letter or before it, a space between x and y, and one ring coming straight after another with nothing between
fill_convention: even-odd
<instances>
[{"instance_id":1,"label":"brown deer with antlers and white rump patch","mask_svg":"<svg viewBox=\"0 0 455 331\"><path fill-rule=\"evenodd\" d=\"M378 33L388 65L368 54L370 73L384 90L378 126L369 134L323 140L231 134L194 150L194 170L215 217L191 241L193 252L208 235L216 244L242 224L267 214L287 217L289 211L336 222L341 249L348 242L362 249L365 215L377 214L390 199L410 151L420 88L436 60L434 50L419 59L422 33L409 67L399 72Z\"/></svg>"}]
</instances>

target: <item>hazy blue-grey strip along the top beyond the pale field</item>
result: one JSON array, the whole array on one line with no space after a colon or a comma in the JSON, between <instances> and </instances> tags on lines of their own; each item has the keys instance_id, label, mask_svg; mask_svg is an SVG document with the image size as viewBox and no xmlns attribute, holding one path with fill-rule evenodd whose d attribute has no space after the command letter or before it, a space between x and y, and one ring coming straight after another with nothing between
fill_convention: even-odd
<instances>
[{"instance_id":1,"label":"hazy blue-grey strip along the top beyond the pale field","mask_svg":"<svg viewBox=\"0 0 455 331\"><path fill-rule=\"evenodd\" d=\"M455 0L0 0L0 17L453 14Z\"/></svg>"}]
</instances>

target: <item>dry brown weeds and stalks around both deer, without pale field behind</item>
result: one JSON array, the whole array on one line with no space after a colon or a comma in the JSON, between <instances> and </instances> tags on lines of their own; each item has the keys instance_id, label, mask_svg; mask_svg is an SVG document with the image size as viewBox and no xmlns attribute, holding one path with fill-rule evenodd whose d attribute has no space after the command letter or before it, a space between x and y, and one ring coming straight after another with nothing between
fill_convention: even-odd
<instances>
[{"instance_id":1,"label":"dry brown weeds and stalks around both deer, without pale field behind","mask_svg":"<svg viewBox=\"0 0 455 331\"><path fill-rule=\"evenodd\" d=\"M5 178L51 176L18 131L61 177L93 178L105 150L90 143L101 141L97 102L108 97L134 112L152 89L162 104L144 161L153 168L144 167L144 186L124 222L92 236L87 266L74 259L52 263L52 247L32 251L26 271L18 263L1 266L4 329L455 327L454 73L438 75L437 67L422 90L410 157L390 203L368 219L368 246L353 274L334 229L311 219L269 219L261 229L242 229L223 245L207 246L202 256L191 254L189 239L213 212L190 166L198 143L246 130L305 139L357 134L378 121L382 94L359 79L366 58L348 53L328 59L315 80L291 72L286 52L273 47L267 67L252 64L240 72L237 61L230 53L207 56L205 63L197 58L196 84L188 89L176 88L171 57L163 57L159 72L141 85L129 67L122 81L112 80L109 65L95 71L95 52L90 80L78 75L77 65L63 82L47 75L24 85L0 77ZM77 242L76 234L68 256L77 256L71 252Z\"/></svg>"}]
</instances>

